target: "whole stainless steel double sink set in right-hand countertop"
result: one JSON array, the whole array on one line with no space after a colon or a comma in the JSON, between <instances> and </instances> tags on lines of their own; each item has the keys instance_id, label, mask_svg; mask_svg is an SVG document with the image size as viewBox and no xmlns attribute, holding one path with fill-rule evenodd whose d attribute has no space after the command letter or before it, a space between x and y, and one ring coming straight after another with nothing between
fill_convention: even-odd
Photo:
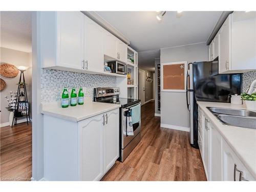
<instances>
[{"instance_id":1,"label":"whole stainless steel double sink set in right-hand countertop","mask_svg":"<svg viewBox=\"0 0 256 192\"><path fill-rule=\"evenodd\" d=\"M256 112L240 109L207 107L223 124L256 129Z\"/></svg>"}]
</instances>

